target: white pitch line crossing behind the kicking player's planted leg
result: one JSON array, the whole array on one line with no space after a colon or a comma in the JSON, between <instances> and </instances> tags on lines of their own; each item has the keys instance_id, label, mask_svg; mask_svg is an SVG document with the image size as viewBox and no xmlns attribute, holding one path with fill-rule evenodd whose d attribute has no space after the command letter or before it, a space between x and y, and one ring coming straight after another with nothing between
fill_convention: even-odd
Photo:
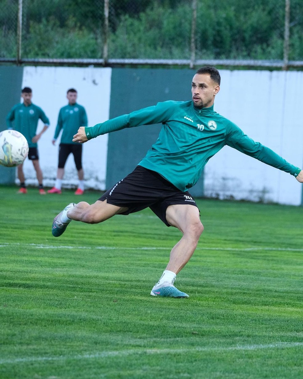
<instances>
[{"instance_id":1,"label":"white pitch line crossing behind the kicking player's planted leg","mask_svg":"<svg viewBox=\"0 0 303 379\"><path fill-rule=\"evenodd\" d=\"M99 249L99 250L166 250L171 249L170 247L150 247L150 246L142 246L142 247L125 247L125 246L69 246L69 245L45 245L45 244L37 244L37 243L2 243L0 247L8 247L8 246L33 246L37 249ZM214 250L214 251L298 251L303 252L303 249L292 249L290 247L286 247L285 249L281 247L197 247L196 250Z\"/></svg>"}]
</instances>

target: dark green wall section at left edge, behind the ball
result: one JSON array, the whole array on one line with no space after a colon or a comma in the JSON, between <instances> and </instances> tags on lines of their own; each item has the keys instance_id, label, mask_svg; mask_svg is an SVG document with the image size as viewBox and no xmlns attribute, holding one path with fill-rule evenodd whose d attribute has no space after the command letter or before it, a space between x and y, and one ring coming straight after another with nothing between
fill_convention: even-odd
<instances>
[{"instance_id":1,"label":"dark green wall section at left edge, behind the ball","mask_svg":"<svg viewBox=\"0 0 303 379\"><path fill-rule=\"evenodd\" d=\"M0 66L0 131L6 130L6 116L11 107L20 102L23 67ZM0 184L15 182L16 168L0 165Z\"/></svg>"}]
</instances>

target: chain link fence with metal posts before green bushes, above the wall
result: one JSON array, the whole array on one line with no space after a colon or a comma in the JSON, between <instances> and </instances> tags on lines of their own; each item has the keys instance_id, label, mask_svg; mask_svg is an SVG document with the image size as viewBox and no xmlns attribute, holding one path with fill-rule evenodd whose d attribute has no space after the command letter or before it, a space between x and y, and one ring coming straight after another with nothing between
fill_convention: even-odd
<instances>
[{"instance_id":1,"label":"chain link fence with metal posts before green bushes, above the wall","mask_svg":"<svg viewBox=\"0 0 303 379\"><path fill-rule=\"evenodd\" d=\"M0 0L0 61L303 67L301 0Z\"/></svg>"}]
</instances>

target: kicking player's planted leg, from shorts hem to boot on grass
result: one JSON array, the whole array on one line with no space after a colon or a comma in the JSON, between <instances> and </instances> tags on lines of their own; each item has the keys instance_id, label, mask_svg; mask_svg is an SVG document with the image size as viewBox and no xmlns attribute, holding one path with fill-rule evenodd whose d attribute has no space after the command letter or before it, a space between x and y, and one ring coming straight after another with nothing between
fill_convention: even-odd
<instances>
[{"instance_id":1,"label":"kicking player's planted leg, from shorts hem to boot on grass","mask_svg":"<svg viewBox=\"0 0 303 379\"><path fill-rule=\"evenodd\" d=\"M173 283L176 274L186 265L194 253L203 232L199 210L193 205L170 205L166 211L166 219L171 226L178 228L183 236L170 252L166 270L150 294L152 296L188 298L189 296L179 291Z\"/></svg>"}]
</instances>

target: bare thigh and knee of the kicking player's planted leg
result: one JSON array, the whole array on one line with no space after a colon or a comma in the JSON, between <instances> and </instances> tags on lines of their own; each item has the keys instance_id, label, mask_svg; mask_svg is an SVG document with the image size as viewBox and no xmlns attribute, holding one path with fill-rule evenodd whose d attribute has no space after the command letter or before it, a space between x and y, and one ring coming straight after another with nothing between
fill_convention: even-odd
<instances>
[{"instance_id":1,"label":"bare thigh and knee of the kicking player's planted leg","mask_svg":"<svg viewBox=\"0 0 303 379\"><path fill-rule=\"evenodd\" d=\"M202 233L203 225L200 221L200 212L195 205L191 204L173 204L169 205L166 210L167 222L181 232Z\"/></svg>"}]
</instances>

